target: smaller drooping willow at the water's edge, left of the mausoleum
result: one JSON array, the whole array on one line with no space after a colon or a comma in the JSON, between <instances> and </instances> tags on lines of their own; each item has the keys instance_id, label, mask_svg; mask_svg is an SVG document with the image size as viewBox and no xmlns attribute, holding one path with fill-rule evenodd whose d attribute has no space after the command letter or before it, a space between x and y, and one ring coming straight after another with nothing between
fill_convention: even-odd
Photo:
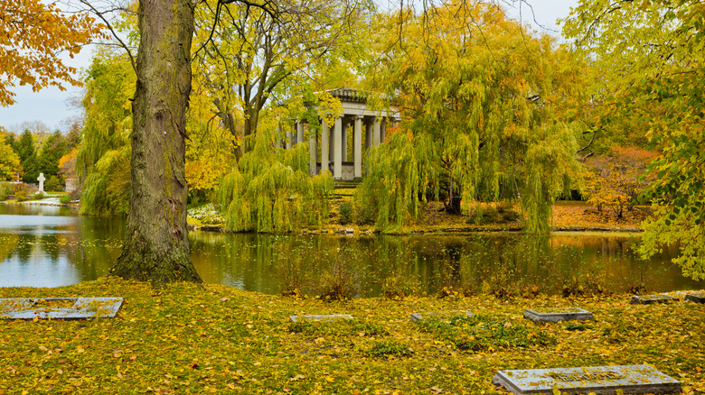
<instances>
[{"instance_id":1,"label":"smaller drooping willow at the water's edge, left of the mausoleum","mask_svg":"<svg viewBox=\"0 0 705 395\"><path fill-rule=\"evenodd\" d=\"M278 233L326 220L331 173L309 177L308 145L283 150L275 148L276 137L268 130L254 134L254 149L222 180L218 199L228 229Z\"/></svg>"}]
</instances>

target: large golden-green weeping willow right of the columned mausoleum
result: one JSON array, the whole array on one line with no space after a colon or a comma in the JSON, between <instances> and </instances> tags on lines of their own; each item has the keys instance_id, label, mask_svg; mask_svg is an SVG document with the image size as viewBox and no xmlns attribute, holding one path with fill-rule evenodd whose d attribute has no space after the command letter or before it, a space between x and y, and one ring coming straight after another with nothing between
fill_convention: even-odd
<instances>
[{"instance_id":1,"label":"large golden-green weeping willow right of the columned mausoleum","mask_svg":"<svg viewBox=\"0 0 705 395\"><path fill-rule=\"evenodd\" d=\"M358 207L393 231L427 196L450 213L510 199L529 232L547 232L553 197L577 166L577 128L560 116L577 95L569 54L484 3L405 9L380 23L369 83L403 119L368 153Z\"/></svg>"}]
</instances>

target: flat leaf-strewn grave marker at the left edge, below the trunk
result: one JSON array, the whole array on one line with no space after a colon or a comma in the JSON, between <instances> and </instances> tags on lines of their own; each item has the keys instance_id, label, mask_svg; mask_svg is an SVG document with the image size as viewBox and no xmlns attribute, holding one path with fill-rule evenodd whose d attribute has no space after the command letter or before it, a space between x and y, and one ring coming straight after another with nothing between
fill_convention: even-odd
<instances>
[{"instance_id":1,"label":"flat leaf-strewn grave marker at the left edge, below the trunk","mask_svg":"<svg viewBox=\"0 0 705 395\"><path fill-rule=\"evenodd\" d=\"M123 303L123 298L0 299L0 318L115 318Z\"/></svg>"}]
</instances>

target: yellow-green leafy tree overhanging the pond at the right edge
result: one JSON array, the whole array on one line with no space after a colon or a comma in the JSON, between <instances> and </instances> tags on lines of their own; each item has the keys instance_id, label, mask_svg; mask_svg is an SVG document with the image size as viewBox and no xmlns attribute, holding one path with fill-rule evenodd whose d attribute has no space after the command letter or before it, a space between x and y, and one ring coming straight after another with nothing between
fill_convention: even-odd
<instances>
[{"instance_id":1,"label":"yellow-green leafy tree overhanging the pond at the right edge","mask_svg":"<svg viewBox=\"0 0 705 395\"><path fill-rule=\"evenodd\" d=\"M673 261L705 278L705 4L700 0L582 1L565 23L576 51L606 70L603 100L644 125L658 157L644 198L655 216L640 252L681 243Z\"/></svg>"}]
</instances>

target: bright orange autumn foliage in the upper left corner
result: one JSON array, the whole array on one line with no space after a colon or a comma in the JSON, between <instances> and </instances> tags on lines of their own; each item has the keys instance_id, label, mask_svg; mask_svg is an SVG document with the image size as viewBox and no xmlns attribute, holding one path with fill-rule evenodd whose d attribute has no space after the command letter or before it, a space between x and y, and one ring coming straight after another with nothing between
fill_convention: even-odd
<instances>
[{"instance_id":1,"label":"bright orange autumn foliage in the upper left corner","mask_svg":"<svg viewBox=\"0 0 705 395\"><path fill-rule=\"evenodd\" d=\"M101 36L101 25L86 14L62 14L41 0L4 0L0 7L0 106L14 104L10 90L29 85L34 91L61 82L79 85L76 69L61 62Z\"/></svg>"}]
</instances>

